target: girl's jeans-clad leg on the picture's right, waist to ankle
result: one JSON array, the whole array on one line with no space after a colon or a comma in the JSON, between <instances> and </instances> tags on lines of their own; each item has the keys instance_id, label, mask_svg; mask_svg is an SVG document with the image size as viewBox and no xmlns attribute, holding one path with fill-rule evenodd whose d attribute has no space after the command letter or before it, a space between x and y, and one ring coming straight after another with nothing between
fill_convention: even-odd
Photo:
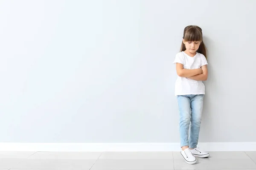
<instances>
[{"instance_id":1,"label":"girl's jeans-clad leg on the picture's right, waist to ankle","mask_svg":"<svg viewBox=\"0 0 256 170\"><path fill-rule=\"evenodd\" d=\"M203 111L204 94L195 95L191 98L191 125L189 132L189 147L196 148L198 144L201 116Z\"/></svg>"}]
</instances>

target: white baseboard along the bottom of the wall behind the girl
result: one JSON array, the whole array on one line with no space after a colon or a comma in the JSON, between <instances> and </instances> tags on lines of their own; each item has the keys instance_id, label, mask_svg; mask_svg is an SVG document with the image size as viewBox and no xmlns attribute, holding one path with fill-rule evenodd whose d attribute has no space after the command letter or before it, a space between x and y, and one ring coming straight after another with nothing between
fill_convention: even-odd
<instances>
[{"instance_id":1,"label":"white baseboard along the bottom of the wall behind the girl","mask_svg":"<svg viewBox=\"0 0 256 170\"><path fill-rule=\"evenodd\" d=\"M256 142L203 142L206 151L256 151ZM179 143L0 143L0 151L127 152L180 151Z\"/></svg>"}]
</instances>

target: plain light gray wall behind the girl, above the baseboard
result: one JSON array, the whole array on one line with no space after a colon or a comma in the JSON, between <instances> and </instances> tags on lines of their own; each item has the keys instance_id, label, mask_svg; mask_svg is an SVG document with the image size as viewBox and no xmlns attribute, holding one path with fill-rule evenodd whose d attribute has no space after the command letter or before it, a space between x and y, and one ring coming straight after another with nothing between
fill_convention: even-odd
<instances>
[{"instance_id":1,"label":"plain light gray wall behind the girl, above the baseboard","mask_svg":"<svg viewBox=\"0 0 256 170\"><path fill-rule=\"evenodd\" d=\"M203 29L199 142L256 142L255 0L0 0L0 142L179 142L172 62Z\"/></svg>"}]
</instances>

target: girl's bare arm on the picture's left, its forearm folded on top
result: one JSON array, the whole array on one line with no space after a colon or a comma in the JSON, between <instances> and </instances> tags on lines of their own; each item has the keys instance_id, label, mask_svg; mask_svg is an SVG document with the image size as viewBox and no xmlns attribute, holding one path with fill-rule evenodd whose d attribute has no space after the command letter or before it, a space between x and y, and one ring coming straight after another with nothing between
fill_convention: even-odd
<instances>
[{"instance_id":1,"label":"girl's bare arm on the picture's left, its forearm folded on top","mask_svg":"<svg viewBox=\"0 0 256 170\"><path fill-rule=\"evenodd\" d=\"M203 72L201 68L192 69L192 70L185 69L185 68L183 68L183 64L181 64L181 63L176 63L176 71L177 71L177 75L179 77L189 77L189 78L191 78L197 74L202 74L202 72Z\"/></svg>"}]
</instances>

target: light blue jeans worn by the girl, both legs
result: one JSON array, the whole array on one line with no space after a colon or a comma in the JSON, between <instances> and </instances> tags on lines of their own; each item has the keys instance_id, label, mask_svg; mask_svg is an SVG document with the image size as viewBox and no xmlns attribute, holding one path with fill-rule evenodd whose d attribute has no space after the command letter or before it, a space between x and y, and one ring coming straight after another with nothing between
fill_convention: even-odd
<instances>
[{"instance_id":1,"label":"light blue jeans worn by the girl, both legs","mask_svg":"<svg viewBox=\"0 0 256 170\"><path fill-rule=\"evenodd\" d=\"M203 100L204 94L177 96L180 111L180 147L197 147Z\"/></svg>"}]
</instances>

